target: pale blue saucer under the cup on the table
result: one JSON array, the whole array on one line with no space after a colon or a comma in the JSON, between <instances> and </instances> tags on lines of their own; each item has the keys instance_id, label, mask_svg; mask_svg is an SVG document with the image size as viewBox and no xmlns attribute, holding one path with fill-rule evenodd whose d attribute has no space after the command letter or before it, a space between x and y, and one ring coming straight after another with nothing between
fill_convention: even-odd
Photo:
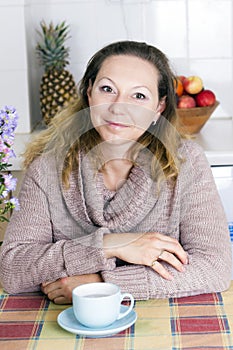
<instances>
[{"instance_id":1,"label":"pale blue saucer under the cup on the table","mask_svg":"<svg viewBox=\"0 0 233 350\"><path fill-rule=\"evenodd\" d=\"M121 312L125 312L128 306L121 305ZM73 307L70 307L64 311L62 311L58 317L58 324L68 332L85 335L88 337L106 337L116 333L119 333L130 326L132 326L137 320L137 314L134 310L132 310L128 315L123 317L120 320L115 321L108 327L104 328L88 328L79 323L73 312Z\"/></svg>"}]
</instances>

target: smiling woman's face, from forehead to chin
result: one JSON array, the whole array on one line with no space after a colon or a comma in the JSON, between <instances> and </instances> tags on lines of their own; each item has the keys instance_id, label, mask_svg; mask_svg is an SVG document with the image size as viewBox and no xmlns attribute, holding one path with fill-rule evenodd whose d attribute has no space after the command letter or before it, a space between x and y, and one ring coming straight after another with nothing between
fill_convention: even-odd
<instances>
[{"instance_id":1,"label":"smiling woman's face, from forehead to chin","mask_svg":"<svg viewBox=\"0 0 233 350\"><path fill-rule=\"evenodd\" d=\"M136 141L165 108L158 71L136 56L111 56L88 88L91 119L104 141Z\"/></svg>"}]
</instances>

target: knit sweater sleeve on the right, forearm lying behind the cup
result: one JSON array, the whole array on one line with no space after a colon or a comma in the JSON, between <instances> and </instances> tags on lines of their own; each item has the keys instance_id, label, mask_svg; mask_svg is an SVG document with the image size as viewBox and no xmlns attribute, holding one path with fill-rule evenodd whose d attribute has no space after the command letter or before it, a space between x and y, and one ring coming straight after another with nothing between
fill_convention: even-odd
<instances>
[{"instance_id":1,"label":"knit sweater sleeve on the right, forearm lying behind the cup","mask_svg":"<svg viewBox=\"0 0 233 350\"><path fill-rule=\"evenodd\" d=\"M202 149L188 141L186 161L177 182L179 219L177 234L189 263L178 272L162 262L172 273L170 281L146 266L126 265L103 271L105 281L113 281L136 299L182 297L221 292L231 280L231 245L225 213ZM168 233L169 234L169 233Z\"/></svg>"}]
</instances>

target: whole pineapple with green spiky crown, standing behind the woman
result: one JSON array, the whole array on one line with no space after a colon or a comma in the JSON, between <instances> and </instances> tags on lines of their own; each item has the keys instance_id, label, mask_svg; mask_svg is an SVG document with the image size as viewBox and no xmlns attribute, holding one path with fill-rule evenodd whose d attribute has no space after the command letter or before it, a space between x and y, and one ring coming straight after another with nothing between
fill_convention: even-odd
<instances>
[{"instance_id":1,"label":"whole pineapple with green spiky crown, standing behind the woman","mask_svg":"<svg viewBox=\"0 0 233 350\"><path fill-rule=\"evenodd\" d=\"M72 74L65 69L69 64L69 48L64 46L68 35L65 21L56 26L40 23L38 31L41 41L37 43L36 53L45 72L40 85L40 107L45 124L69 101L77 97L77 89Z\"/></svg>"}]
</instances>

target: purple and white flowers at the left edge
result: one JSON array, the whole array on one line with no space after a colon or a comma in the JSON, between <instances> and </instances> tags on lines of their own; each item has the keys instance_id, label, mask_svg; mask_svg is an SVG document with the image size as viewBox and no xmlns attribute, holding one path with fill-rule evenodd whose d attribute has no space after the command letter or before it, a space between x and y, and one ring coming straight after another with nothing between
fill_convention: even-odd
<instances>
[{"instance_id":1,"label":"purple and white flowers at the left edge","mask_svg":"<svg viewBox=\"0 0 233 350\"><path fill-rule=\"evenodd\" d=\"M9 221L7 213L14 208L19 209L17 198L10 195L17 184L9 172L9 159L15 157L12 149L14 144L14 131L17 127L18 114L14 107L6 106L0 110L0 222Z\"/></svg>"}]
</instances>

